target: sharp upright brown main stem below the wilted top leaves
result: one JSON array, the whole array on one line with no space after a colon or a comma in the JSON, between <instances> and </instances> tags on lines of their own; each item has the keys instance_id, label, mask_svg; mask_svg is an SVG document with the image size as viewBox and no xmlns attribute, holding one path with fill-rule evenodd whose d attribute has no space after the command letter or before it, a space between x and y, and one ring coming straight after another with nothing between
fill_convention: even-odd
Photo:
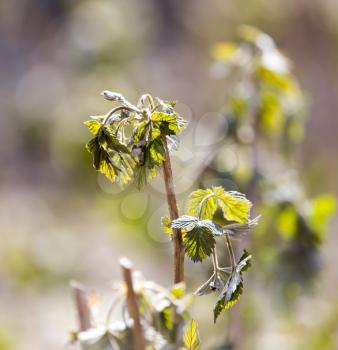
<instances>
[{"instance_id":1,"label":"sharp upright brown main stem below the wilted top leaves","mask_svg":"<svg viewBox=\"0 0 338 350\"><path fill-rule=\"evenodd\" d=\"M167 202L169 207L170 220L179 217L176 195L174 190L173 173L171 169L170 155L166 137L163 138L165 160L163 162L163 177L165 189L167 193ZM173 229L173 245L174 245L174 283L184 281L184 245L182 231Z\"/></svg>"}]
</instances>

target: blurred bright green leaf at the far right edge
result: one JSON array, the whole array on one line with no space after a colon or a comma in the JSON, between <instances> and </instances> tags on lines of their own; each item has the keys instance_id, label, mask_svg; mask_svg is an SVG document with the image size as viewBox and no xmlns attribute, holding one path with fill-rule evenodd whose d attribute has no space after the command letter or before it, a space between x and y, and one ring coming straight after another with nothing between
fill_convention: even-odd
<instances>
[{"instance_id":1,"label":"blurred bright green leaf at the far right edge","mask_svg":"<svg viewBox=\"0 0 338 350\"><path fill-rule=\"evenodd\" d=\"M312 200L309 223L322 241L327 231L328 220L337 210L337 200L329 194L323 194Z\"/></svg>"}]
</instances>

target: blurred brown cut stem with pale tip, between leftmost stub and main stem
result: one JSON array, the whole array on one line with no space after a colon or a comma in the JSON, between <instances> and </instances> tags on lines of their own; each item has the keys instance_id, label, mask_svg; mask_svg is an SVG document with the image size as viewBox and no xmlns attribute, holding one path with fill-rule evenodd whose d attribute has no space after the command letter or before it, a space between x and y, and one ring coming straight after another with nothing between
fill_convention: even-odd
<instances>
[{"instance_id":1,"label":"blurred brown cut stem with pale tip, between leftmost stub and main stem","mask_svg":"<svg viewBox=\"0 0 338 350\"><path fill-rule=\"evenodd\" d=\"M133 319L133 350L145 350L146 347L143 329L141 326L137 296L133 286L132 264L127 258L122 258L120 259L120 266L122 269L123 280L127 289L128 314Z\"/></svg>"}]
</instances>

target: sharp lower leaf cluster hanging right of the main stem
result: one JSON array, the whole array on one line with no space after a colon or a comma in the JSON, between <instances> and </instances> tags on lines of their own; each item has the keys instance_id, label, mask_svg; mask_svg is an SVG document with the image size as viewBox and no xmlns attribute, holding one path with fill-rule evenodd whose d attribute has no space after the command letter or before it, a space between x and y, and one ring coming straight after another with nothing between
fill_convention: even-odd
<instances>
[{"instance_id":1,"label":"sharp lower leaf cluster hanging right of the main stem","mask_svg":"<svg viewBox=\"0 0 338 350\"><path fill-rule=\"evenodd\" d=\"M233 261L232 238L247 234L258 223L259 217L250 219L251 202L241 193L225 191L222 187L198 189L192 192L187 202L187 215L183 215L168 224L166 229L181 229L186 254L194 262L202 262L212 256L214 272L212 276L195 292L197 295L219 290L220 295L214 308L214 319L233 306L243 289L242 272L249 266L251 256L245 252L239 262ZM221 210L226 225L213 221L217 210ZM216 238L225 237L231 267L220 268L216 255Z\"/></svg>"}]
</instances>

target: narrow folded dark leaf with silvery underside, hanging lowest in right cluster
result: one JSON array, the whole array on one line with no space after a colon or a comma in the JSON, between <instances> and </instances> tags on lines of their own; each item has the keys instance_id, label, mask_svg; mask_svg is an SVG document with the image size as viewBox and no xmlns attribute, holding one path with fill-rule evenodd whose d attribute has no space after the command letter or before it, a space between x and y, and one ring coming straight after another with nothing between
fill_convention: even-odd
<instances>
[{"instance_id":1,"label":"narrow folded dark leaf with silvery underside, hanging lowest in right cluster","mask_svg":"<svg viewBox=\"0 0 338 350\"><path fill-rule=\"evenodd\" d=\"M244 254L229 276L214 306L214 322L216 322L223 310L229 309L239 300L243 292L242 272L246 271L251 266L250 259L251 255L244 251Z\"/></svg>"}]
</instances>

